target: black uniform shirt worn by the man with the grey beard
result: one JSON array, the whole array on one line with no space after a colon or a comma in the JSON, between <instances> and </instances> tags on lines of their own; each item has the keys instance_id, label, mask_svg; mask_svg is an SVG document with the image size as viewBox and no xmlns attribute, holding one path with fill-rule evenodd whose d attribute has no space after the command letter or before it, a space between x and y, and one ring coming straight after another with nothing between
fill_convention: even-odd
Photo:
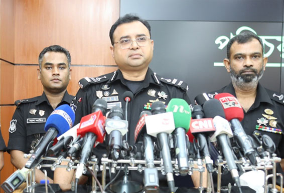
<instances>
[{"instance_id":1,"label":"black uniform shirt worn by the man with the grey beard","mask_svg":"<svg viewBox=\"0 0 284 193\"><path fill-rule=\"evenodd\" d=\"M220 90L209 92L208 95L213 98L215 94L222 92L228 92L236 96L232 83ZM265 109L270 110L267 111ZM264 110L268 112L270 116ZM275 123L275 121L277 122ZM261 135L267 134L272 138L276 146L277 156L284 158L284 94L266 89L258 83L254 103L247 112L244 111L244 118L241 124L246 134L249 135L252 135L252 132L256 130L256 125L281 129L281 134L262 130L259 130L259 132ZM282 172L279 164L277 164L277 172ZM230 174L226 175L226 177L222 176L222 185L227 185L230 180Z\"/></svg>"}]
</instances>

